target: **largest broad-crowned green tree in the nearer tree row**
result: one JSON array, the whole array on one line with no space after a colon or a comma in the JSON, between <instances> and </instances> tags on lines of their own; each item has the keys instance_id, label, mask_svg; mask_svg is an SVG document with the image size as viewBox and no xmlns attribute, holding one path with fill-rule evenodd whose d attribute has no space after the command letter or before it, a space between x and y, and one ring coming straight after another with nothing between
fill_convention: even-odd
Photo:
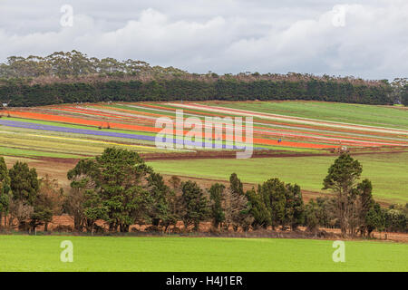
<instances>
[{"instance_id":1,"label":"largest broad-crowned green tree in the nearer tree row","mask_svg":"<svg viewBox=\"0 0 408 290\"><path fill-rule=\"evenodd\" d=\"M127 232L136 221L149 218L149 191L143 181L151 172L138 153L116 148L107 148L95 159L80 160L68 171L73 189L85 195L88 230L103 219L111 230Z\"/></svg>"}]
</instances>

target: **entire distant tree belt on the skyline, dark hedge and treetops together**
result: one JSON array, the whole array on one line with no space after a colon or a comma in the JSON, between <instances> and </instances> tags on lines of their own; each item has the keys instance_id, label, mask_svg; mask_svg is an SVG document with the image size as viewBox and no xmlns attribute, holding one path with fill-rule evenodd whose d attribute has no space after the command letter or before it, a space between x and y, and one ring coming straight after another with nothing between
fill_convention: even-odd
<instances>
[{"instance_id":1,"label":"entire distant tree belt on the skyline, dark hedge and treetops together","mask_svg":"<svg viewBox=\"0 0 408 290\"><path fill-rule=\"evenodd\" d=\"M187 73L141 61L89 58L73 51L45 57L11 56L0 63L0 102L10 106L180 100L404 103L406 79L395 80L301 73Z\"/></svg>"}]
</instances>

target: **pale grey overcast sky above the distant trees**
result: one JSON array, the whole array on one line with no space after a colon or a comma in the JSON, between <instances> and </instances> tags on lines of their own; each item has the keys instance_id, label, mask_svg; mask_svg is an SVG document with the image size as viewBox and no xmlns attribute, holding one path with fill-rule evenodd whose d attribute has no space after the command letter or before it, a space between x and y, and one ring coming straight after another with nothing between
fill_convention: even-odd
<instances>
[{"instance_id":1,"label":"pale grey overcast sky above the distant trees","mask_svg":"<svg viewBox=\"0 0 408 290\"><path fill-rule=\"evenodd\" d=\"M0 0L0 43L0 62L75 49L190 73L392 80L408 76L408 1Z\"/></svg>"}]
</instances>

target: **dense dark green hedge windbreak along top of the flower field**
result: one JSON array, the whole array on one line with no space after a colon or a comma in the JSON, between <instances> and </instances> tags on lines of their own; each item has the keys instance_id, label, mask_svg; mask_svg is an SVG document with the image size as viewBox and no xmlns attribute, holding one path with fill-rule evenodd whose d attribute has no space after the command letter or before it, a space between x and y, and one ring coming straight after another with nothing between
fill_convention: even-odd
<instances>
[{"instance_id":1,"label":"dense dark green hedge windbreak along top of the flower field","mask_svg":"<svg viewBox=\"0 0 408 290\"><path fill-rule=\"evenodd\" d=\"M39 106L73 102L141 101L271 101L306 100L393 104L388 86L352 84L324 80L215 82L189 80L53 82L29 85L7 82L0 85L0 102L9 106Z\"/></svg>"}]
</instances>

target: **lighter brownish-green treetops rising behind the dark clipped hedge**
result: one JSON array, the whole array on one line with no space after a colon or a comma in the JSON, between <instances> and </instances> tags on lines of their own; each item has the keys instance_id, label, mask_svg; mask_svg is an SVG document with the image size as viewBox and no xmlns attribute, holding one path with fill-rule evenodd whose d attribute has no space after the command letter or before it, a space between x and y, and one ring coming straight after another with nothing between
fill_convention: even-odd
<instances>
[{"instance_id":1,"label":"lighter brownish-green treetops rising behind the dark clipped hedge","mask_svg":"<svg viewBox=\"0 0 408 290\"><path fill-rule=\"evenodd\" d=\"M384 85L385 80L363 80L354 76L316 76L310 73L188 73L173 67L151 66L149 63L128 59L119 61L112 57L98 59L78 51L55 52L47 56L29 55L10 56L5 63L0 63L0 79L20 79L31 84L49 82L94 81L96 79L126 79L152 81L159 79L183 79L211 82L214 80L238 80L253 82L269 81L310 81L351 82L353 84Z\"/></svg>"}]
</instances>

